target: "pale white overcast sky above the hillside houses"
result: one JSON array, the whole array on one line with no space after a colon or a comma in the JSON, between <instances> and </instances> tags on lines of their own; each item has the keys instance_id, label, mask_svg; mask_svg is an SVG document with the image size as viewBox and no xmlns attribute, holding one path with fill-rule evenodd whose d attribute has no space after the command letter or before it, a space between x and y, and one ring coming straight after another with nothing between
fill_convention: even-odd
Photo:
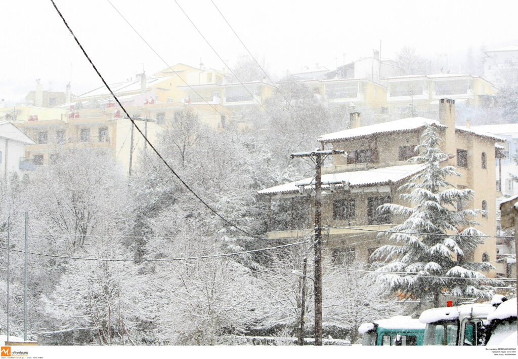
<instances>
[{"instance_id":1,"label":"pale white overcast sky above the hillside houses","mask_svg":"<svg viewBox=\"0 0 518 359\"><path fill-rule=\"evenodd\" d=\"M247 54L211 0L177 0L229 65ZM518 2L510 1L282 1L213 0L244 44L270 71L283 75L315 63L334 68L370 56L382 40L382 56L405 45L433 59L462 59L471 46L518 44ZM165 64L107 0L55 0L72 30L108 82L153 74ZM173 65L221 70L222 61L174 0L111 0L153 48ZM73 93L100 86L50 0L3 2L0 9L0 96L21 101L41 78L44 89ZM454 70L454 69L453 69Z\"/></svg>"}]
</instances>

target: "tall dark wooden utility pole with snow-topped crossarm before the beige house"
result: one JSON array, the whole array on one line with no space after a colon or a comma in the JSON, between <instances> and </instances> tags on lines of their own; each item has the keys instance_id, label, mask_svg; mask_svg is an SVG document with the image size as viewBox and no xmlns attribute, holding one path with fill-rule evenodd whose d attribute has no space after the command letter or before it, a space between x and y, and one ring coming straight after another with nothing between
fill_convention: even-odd
<instances>
[{"instance_id":1,"label":"tall dark wooden utility pole with snow-topped crossarm before the beige house","mask_svg":"<svg viewBox=\"0 0 518 359\"><path fill-rule=\"evenodd\" d=\"M291 154L291 158L314 158L315 163L315 252L314 252L314 297L315 297L315 346L322 345L322 162L329 155L344 154L342 150L319 150Z\"/></svg>"}]
</instances>

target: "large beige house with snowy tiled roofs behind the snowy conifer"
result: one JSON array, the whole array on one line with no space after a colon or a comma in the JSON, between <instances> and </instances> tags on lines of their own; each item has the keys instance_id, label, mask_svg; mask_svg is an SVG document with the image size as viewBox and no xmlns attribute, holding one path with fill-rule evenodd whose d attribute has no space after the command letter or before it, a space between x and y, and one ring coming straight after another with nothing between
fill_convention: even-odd
<instances>
[{"instance_id":1,"label":"large beige house with snowy tiled roofs behind the snowy conifer","mask_svg":"<svg viewBox=\"0 0 518 359\"><path fill-rule=\"evenodd\" d=\"M376 231L392 228L398 223L398 218L380 215L376 209L383 203L403 204L399 199L399 187L424 169L421 164L409 164L407 159L416 155L414 148L420 143L426 125L437 128L443 139L441 149L450 155L448 164L454 165L462 174L462 177L450 178L450 181L457 188L474 190L471 208L488 210L486 216L477 218L480 230L488 236L495 236L495 143L504 140L496 135L455 126L455 101L441 99L439 104L439 121L409 117L360 127L360 115L353 113L353 128L318 138L322 147L347 153L347 156L334 156L332 165L322 168L322 218L323 224L329 226L326 230L327 250L335 260L342 262L356 258L367 262L376 248L391 244L377 239ZM299 238L312 232L313 189L314 179L305 178L259 191L272 200L307 199L310 209L305 228L299 225L299 228L268 232L269 238ZM487 238L473 256L474 261L496 259L495 238Z\"/></svg>"}]
</instances>

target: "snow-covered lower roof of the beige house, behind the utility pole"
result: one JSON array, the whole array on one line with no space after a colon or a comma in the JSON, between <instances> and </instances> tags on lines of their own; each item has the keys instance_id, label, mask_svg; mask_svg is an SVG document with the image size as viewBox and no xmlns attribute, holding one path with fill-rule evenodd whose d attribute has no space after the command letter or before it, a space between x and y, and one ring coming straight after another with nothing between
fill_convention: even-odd
<instances>
[{"instance_id":1,"label":"snow-covered lower roof of the beige house, behind the utility pole","mask_svg":"<svg viewBox=\"0 0 518 359\"><path fill-rule=\"evenodd\" d=\"M329 188L331 184L336 184L337 187L341 187L344 183L348 183L349 186L354 187L398 182L422 171L425 167L425 164L404 164L365 171L328 173L322 175L322 188ZM258 191L258 193L261 195L290 194L296 193L299 191L299 188L304 188L306 186L314 186L313 177L299 179L299 181L294 181L275 187L265 188Z\"/></svg>"}]
</instances>

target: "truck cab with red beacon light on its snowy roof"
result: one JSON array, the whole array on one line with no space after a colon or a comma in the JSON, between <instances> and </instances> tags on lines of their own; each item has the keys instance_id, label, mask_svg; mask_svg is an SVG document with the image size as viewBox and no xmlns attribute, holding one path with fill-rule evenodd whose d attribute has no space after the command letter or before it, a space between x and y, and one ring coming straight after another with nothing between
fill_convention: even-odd
<instances>
[{"instance_id":1,"label":"truck cab with red beacon light on its snowy roof","mask_svg":"<svg viewBox=\"0 0 518 359\"><path fill-rule=\"evenodd\" d=\"M424 345L484 346L487 316L494 310L491 304L481 303L425 310L419 317L426 325Z\"/></svg>"}]
</instances>

